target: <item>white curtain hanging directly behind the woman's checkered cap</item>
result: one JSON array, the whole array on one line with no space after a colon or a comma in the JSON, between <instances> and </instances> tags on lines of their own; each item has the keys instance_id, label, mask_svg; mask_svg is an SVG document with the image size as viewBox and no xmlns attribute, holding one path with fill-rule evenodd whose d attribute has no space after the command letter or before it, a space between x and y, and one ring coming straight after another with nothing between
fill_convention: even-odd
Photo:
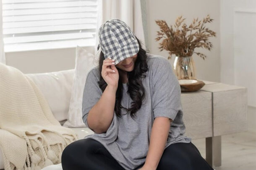
<instances>
[{"instance_id":1,"label":"white curtain hanging directly behind the woman's checkered cap","mask_svg":"<svg viewBox=\"0 0 256 170\"><path fill-rule=\"evenodd\" d=\"M140 40L142 48L147 49L140 0L98 0L98 7L95 55L97 54L97 46L99 44L99 27L107 20L114 18L118 18L129 25L133 33Z\"/></svg>"}]
</instances>

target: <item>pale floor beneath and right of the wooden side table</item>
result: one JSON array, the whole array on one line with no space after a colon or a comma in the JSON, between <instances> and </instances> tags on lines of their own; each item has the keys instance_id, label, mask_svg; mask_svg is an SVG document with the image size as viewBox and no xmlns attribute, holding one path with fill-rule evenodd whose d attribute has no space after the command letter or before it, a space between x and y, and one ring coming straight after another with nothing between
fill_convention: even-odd
<instances>
[{"instance_id":1,"label":"pale floor beneath and right of the wooden side table","mask_svg":"<svg viewBox=\"0 0 256 170\"><path fill-rule=\"evenodd\" d=\"M205 139L192 140L205 158ZM256 132L222 136L222 166L216 170L256 170Z\"/></svg>"}]
</instances>

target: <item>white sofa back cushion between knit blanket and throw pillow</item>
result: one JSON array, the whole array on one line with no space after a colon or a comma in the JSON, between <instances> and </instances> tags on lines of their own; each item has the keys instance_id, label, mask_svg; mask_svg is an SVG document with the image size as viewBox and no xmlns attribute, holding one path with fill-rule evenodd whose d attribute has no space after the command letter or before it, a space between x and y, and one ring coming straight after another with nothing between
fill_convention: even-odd
<instances>
[{"instance_id":1,"label":"white sofa back cushion between knit blanket and throw pillow","mask_svg":"<svg viewBox=\"0 0 256 170\"><path fill-rule=\"evenodd\" d=\"M67 119L71 98L74 69L49 73L26 74L44 94L54 117L60 122Z\"/></svg>"}]
</instances>

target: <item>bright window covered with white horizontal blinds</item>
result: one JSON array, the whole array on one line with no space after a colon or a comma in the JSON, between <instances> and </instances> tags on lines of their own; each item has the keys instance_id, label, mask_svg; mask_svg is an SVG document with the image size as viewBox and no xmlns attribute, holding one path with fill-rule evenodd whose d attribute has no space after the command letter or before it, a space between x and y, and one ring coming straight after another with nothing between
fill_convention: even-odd
<instances>
[{"instance_id":1,"label":"bright window covered with white horizontal blinds","mask_svg":"<svg viewBox=\"0 0 256 170\"><path fill-rule=\"evenodd\" d=\"M95 46L97 0L2 0L5 52Z\"/></svg>"}]
</instances>

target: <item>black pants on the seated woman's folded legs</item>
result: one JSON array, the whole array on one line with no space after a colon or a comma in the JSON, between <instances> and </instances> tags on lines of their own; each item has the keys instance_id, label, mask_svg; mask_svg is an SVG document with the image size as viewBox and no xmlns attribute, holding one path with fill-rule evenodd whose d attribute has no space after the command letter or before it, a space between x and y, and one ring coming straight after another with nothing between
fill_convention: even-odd
<instances>
[{"instance_id":1,"label":"black pants on the seated woman's folded legs","mask_svg":"<svg viewBox=\"0 0 256 170\"><path fill-rule=\"evenodd\" d=\"M63 170L124 170L106 148L86 138L69 144L63 150ZM138 170L139 167L135 170ZM157 170L213 170L193 143L174 143L165 148Z\"/></svg>"}]
</instances>

